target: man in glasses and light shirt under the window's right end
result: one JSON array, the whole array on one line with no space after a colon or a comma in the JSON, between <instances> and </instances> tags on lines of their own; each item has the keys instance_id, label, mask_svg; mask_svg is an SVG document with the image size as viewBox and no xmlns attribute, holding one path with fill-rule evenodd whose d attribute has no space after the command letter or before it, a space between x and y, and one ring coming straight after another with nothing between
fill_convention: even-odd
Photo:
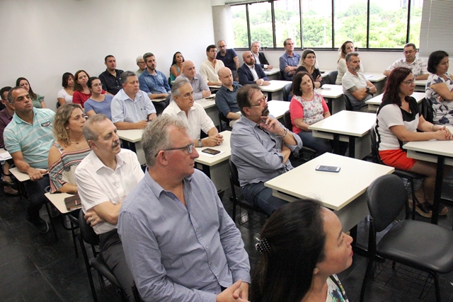
<instances>
[{"instance_id":1,"label":"man in glasses and light shirt under the window's right end","mask_svg":"<svg viewBox=\"0 0 453 302\"><path fill-rule=\"evenodd\" d=\"M417 47L415 47L415 44L408 43L404 45L403 54L404 59L397 59L394 64L391 64L389 68L384 70L384 76L389 76L391 71L396 69L396 67L406 67L411 69L415 80L428 79L428 65L425 60L415 57L417 54Z\"/></svg>"}]
</instances>

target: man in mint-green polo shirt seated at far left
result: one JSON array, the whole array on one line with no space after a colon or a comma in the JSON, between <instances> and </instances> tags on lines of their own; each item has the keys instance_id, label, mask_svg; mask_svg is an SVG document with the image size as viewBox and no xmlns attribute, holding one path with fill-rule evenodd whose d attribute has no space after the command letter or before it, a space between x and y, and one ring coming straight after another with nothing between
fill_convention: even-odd
<instances>
[{"instance_id":1,"label":"man in mint-green polo shirt seated at far left","mask_svg":"<svg viewBox=\"0 0 453 302\"><path fill-rule=\"evenodd\" d=\"M16 167L30 177L25 182L28 194L26 219L38 231L47 233L49 225L40 217L40 209L47 201L45 188L50 185L47 157L54 142L52 122L55 112L33 108L30 95L21 87L8 92L8 102L16 111L4 131L5 149L11 153Z\"/></svg>"}]
</instances>

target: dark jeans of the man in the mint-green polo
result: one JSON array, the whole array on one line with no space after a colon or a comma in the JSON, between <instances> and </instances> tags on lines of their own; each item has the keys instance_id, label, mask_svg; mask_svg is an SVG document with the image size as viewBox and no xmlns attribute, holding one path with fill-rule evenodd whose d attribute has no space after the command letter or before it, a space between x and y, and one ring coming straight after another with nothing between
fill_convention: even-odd
<instances>
[{"instance_id":1,"label":"dark jeans of the man in the mint-green polo","mask_svg":"<svg viewBox=\"0 0 453 302\"><path fill-rule=\"evenodd\" d=\"M28 195L27 219L36 221L40 217L40 209L47 202L45 188L50 186L49 175L43 175L40 180L25 182L25 191Z\"/></svg>"}]
</instances>

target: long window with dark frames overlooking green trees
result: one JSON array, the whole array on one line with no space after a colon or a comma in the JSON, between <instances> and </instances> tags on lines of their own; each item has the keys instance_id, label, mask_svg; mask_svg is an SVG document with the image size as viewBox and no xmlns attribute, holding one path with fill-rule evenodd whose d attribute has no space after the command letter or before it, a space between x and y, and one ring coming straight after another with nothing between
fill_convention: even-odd
<instances>
[{"instance_id":1,"label":"long window with dark frames overlooking green trees","mask_svg":"<svg viewBox=\"0 0 453 302\"><path fill-rule=\"evenodd\" d=\"M233 0L231 1L233 2ZM242 1L243 2L243 1ZM401 49L420 41L423 0L279 0L232 5L235 47Z\"/></svg>"}]
</instances>

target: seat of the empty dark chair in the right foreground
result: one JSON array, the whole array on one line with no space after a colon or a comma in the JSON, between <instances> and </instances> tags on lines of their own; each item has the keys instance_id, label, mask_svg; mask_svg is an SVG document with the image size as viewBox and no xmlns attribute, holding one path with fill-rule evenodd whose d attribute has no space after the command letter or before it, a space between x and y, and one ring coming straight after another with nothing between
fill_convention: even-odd
<instances>
[{"instance_id":1,"label":"seat of the empty dark chair in the right foreground","mask_svg":"<svg viewBox=\"0 0 453 302\"><path fill-rule=\"evenodd\" d=\"M453 232L415 220L398 222L377 244L378 254L420 269L453 270Z\"/></svg>"}]
</instances>

